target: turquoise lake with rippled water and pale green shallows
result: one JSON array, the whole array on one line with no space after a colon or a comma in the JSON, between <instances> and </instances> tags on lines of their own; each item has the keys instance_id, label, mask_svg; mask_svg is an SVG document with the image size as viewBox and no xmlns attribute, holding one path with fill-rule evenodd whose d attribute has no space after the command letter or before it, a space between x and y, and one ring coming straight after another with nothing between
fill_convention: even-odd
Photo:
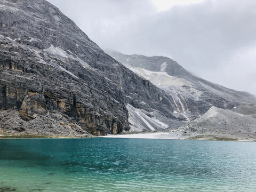
<instances>
[{"instance_id":1,"label":"turquoise lake with rippled water and pale green shallows","mask_svg":"<svg viewBox=\"0 0 256 192\"><path fill-rule=\"evenodd\" d=\"M0 192L256 191L256 142L1 139Z\"/></svg>"}]
</instances>

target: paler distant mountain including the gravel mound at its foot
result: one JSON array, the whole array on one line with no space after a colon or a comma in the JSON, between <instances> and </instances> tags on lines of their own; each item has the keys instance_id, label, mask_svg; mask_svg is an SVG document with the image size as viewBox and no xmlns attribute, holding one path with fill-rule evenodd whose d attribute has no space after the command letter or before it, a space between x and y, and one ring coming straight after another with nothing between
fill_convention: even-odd
<instances>
[{"instance_id":1,"label":"paler distant mountain including the gravel mound at its foot","mask_svg":"<svg viewBox=\"0 0 256 192\"><path fill-rule=\"evenodd\" d=\"M188 119L184 132L190 128L198 134L256 137L254 95L199 78L167 57L125 55L110 49L105 52L169 94L175 102L173 114Z\"/></svg>"}]
</instances>

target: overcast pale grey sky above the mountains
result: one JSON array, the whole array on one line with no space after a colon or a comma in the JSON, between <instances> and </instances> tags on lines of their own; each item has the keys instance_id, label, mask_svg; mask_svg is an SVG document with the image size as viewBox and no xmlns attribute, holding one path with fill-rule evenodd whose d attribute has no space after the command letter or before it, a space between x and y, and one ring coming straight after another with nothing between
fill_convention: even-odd
<instances>
[{"instance_id":1,"label":"overcast pale grey sky above the mountains","mask_svg":"<svg viewBox=\"0 0 256 192\"><path fill-rule=\"evenodd\" d=\"M256 94L255 0L49 0L100 47Z\"/></svg>"}]
</instances>

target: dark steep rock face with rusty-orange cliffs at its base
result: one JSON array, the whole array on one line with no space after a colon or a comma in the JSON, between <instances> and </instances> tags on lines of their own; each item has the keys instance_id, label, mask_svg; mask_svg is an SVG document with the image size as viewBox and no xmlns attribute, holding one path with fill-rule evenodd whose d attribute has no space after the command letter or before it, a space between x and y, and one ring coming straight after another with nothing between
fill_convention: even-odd
<instances>
[{"instance_id":1,"label":"dark steep rock face with rusty-orange cliffs at its base","mask_svg":"<svg viewBox=\"0 0 256 192\"><path fill-rule=\"evenodd\" d=\"M116 134L130 130L127 105L171 119L170 127L186 123L172 113L168 93L111 58L50 3L0 0L0 18L0 108L9 122L0 117L2 131L15 131L19 116L21 133Z\"/></svg>"}]
</instances>

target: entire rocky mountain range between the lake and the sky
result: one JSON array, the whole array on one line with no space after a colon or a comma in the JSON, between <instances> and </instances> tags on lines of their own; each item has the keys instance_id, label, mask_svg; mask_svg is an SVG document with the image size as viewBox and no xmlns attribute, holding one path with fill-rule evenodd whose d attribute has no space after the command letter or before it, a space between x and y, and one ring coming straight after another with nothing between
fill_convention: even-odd
<instances>
[{"instance_id":1,"label":"entire rocky mountain range between the lake and the sky","mask_svg":"<svg viewBox=\"0 0 256 192\"><path fill-rule=\"evenodd\" d=\"M0 16L0 133L256 138L249 93L166 57L103 51L44 0L0 0Z\"/></svg>"}]
</instances>

